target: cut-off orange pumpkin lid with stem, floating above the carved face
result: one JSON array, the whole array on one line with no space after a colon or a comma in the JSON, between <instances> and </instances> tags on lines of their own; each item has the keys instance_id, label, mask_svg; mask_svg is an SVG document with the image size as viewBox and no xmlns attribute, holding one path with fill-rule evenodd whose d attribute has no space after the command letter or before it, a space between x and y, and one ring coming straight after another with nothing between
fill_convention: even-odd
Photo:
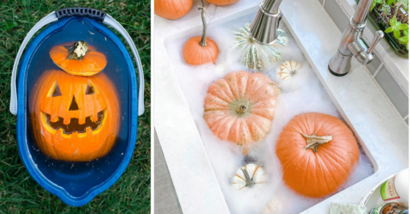
<instances>
[{"instance_id":1,"label":"cut-off orange pumpkin lid with stem, floating above the carved face","mask_svg":"<svg viewBox=\"0 0 410 214\"><path fill-rule=\"evenodd\" d=\"M85 41L54 46L50 50L50 57L65 72L77 76L98 74L107 65L105 55Z\"/></svg>"}]
</instances>

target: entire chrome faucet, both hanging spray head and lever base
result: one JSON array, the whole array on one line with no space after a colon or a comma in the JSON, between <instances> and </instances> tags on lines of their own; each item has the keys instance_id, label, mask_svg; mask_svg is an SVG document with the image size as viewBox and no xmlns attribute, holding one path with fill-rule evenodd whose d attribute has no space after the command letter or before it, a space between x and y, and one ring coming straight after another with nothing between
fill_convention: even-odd
<instances>
[{"instance_id":1,"label":"entire chrome faucet, both hanging spray head and lever base","mask_svg":"<svg viewBox=\"0 0 410 214\"><path fill-rule=\"evenodd\" d=\"M272 45L278 35L277 29L282 13L279 5L282 0L264 0L259 4L259 11L251 25L252 39L262 45ZM373 60L373 49L383 38L383 31L376 31L370 47L361 38L366 27L367 16L373 0L360 0L359 6L350 19L349 25L343 32L338 52L329 62L329 71L335 76L346 75L351 67L352 56L361 64L368 64Z\"/></svg>"}]
</instances>

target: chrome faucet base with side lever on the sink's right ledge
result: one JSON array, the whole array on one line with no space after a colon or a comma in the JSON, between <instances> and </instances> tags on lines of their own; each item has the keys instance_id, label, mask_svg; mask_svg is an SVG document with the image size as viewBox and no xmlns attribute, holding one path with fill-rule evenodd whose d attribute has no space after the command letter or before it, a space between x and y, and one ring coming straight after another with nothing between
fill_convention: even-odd
<instances>
[{"instance_id":1,"label":"chrome faucet base with side lever on the sink's right ledge","mask_svg":"<svg viewBox=\"0 0 410 214\"><path fill-rule=\"evenodd\" d=\"M383 38L383 31L376 31L370 47L361 38L366 27L366 19L373 0L360 0L359 6L349 25L343 32L338 52L329 62L329 71L335 76L346 75L351 67L352 56L361 64L369 64L373 60L373 49Z\"/></svg>"}]
</instances>

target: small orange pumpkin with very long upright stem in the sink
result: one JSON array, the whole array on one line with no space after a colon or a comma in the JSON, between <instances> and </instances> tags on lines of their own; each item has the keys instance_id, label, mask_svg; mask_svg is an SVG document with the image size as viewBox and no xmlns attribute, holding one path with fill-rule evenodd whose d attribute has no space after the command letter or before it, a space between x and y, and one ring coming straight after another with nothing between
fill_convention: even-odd
<instances>
[{"instance_id":1,"label":"small orange pumpkin with very long upright stem in the sink","mask_svg":"<svg viewBox=\"0 0 410 214\"><path fill-rule=\"evenodd\" d=\"M202 18L202 36L190 38L184 45L182 55L189 65L202 65L205 63L215 63L219 54L218 46L214 41L206 37L207 24L205 20L205 2L202 0L202 7L199 7Z\"/></svg>"}]
</instances>

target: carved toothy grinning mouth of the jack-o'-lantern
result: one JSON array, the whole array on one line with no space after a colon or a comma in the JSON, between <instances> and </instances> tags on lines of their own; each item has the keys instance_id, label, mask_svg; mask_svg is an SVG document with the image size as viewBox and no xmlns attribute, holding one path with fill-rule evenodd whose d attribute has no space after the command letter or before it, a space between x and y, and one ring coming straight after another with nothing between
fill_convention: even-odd
<instances>
[{"instance_id":1,"label":"carved toothy grinning mouth of the jack-o'-lantern","mask_svg":"<svg viewBox=\"0 0 410 214\"><path fill-rule=\"evenodd\" d=\"M84 137L87 132L91 131L93 134L96 134L101 129L106 118L106 110L102 110L97 114L97 120L93 119L92 116L85 118L84 124L79 124L78 118L71 118L69 124L64 124L64 118L58 117L56 122L50 120L50 114L40 112L41 121L46 129L55 134L57 130L61 130L60 134L64 137L71 137L71 134L78 133L79 137Z\"/></svg>"}]
</instances>

